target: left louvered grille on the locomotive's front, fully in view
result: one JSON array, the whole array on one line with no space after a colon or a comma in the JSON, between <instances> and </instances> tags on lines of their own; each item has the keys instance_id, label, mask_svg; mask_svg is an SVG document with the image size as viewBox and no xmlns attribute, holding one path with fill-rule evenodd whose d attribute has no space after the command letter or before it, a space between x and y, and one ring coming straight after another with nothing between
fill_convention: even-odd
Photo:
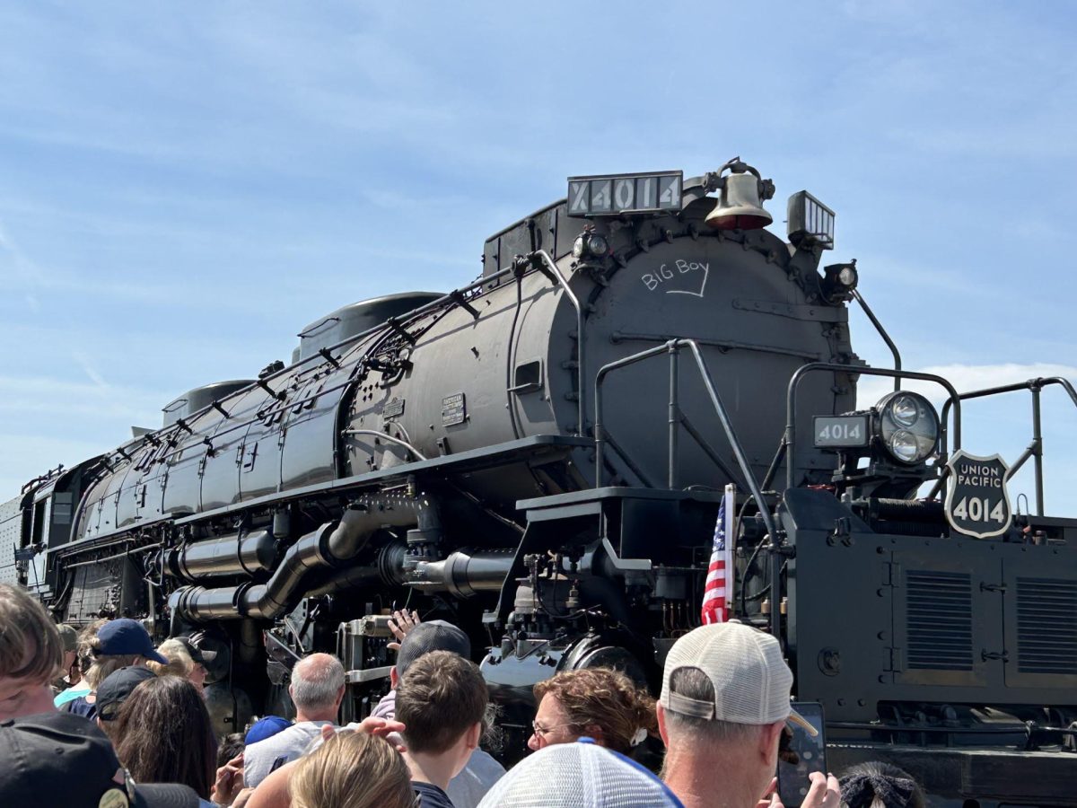
<instances>
[{"instance_id":1,"label":"left louvered grille on the locomotive's front, fully in view","mask_svg":"<svg viewBox=\"0 0 1077 808\"><path fill-rule=\"evenodd\" d=\"M955 572L905 577L906 665L924 670L973 669L973 587Z\"/></svg>"}]
</instances>

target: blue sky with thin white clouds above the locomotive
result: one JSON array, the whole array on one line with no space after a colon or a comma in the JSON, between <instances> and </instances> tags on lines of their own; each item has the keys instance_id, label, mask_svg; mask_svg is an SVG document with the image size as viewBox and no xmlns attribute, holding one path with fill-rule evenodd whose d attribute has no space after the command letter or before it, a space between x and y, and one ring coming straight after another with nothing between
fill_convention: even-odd
<instances>
[{"instance_id":1,"label":"blue sky with thin white clouds above the locomotive","mask_svg":"<svg viewBox=\"0 0 1077 808\"><path fill-rule=\"evenodd\" d=\"M733 155L777 220L837 211L907 367L1077 380L1072 3L458 5L0 5L0 500L340 305L466 283L570 175ZM1045 421L1077 515L1077 409ZM1012 461L1026 396L966 432Z\"/></svg>"}]
</instances>

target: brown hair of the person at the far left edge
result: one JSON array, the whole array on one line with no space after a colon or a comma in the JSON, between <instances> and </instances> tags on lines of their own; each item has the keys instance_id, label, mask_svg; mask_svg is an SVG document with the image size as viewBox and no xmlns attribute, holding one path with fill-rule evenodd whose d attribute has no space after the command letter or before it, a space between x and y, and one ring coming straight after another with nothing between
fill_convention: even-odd
<instances>
[{"instance_id":1,"label":"brown hair of the person at the far left edge","mask_svg":"<svg viewBox=\"0 0 1077 808\"><path fill-rule=\"evenodd\" d=\"M64 641L28 593L0 584L0 678L47 682L64 664Z\"/></svg>"}]
</instances>

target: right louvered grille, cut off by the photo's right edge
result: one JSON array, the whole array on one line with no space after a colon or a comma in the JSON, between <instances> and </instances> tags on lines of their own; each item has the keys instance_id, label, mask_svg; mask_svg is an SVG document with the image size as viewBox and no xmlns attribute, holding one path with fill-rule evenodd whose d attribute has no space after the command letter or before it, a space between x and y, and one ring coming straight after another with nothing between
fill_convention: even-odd
<instances>
[{"instance_id":1,"label":"right louvered grille, cut off by the photo's right edge","mask_svg":"<svg viewBox=\"0 0 1077 808\"><path fill-rule=\"evenodd\" d=\"M1077 673L1077 581L1017 580L1018 670Z\"/></svg>"}]
</instances>

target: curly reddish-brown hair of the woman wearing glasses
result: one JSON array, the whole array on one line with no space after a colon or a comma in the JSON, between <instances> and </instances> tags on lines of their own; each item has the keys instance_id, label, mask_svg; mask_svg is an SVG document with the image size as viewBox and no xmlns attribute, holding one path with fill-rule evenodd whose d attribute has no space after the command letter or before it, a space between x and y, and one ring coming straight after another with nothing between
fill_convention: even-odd
<instances>
[{"instance_id":1,"label":"curly reddish-brown hair of the woman wearing glasses","mask_svg":"<svg viewBox=\"0 0 1077 808\"><path fill-rule=\"evenodd\" d=\"M535 701L554 696L581 735L602 730L602 746L628 754L640 729L658 732L655 699L627 675L610 668L558 673L534 686Z\"/></svg>"}]
</instances>

